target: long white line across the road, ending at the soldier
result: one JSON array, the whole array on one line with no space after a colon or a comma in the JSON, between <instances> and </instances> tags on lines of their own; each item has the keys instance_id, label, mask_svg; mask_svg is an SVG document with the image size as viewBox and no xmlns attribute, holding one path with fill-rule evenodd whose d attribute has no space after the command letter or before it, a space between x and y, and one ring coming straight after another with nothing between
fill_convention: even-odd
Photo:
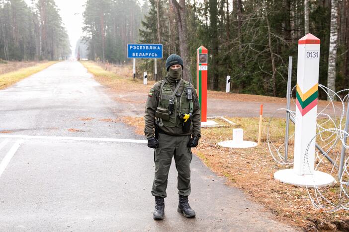
<instances>
[{"instance_id":1,"label":"long white line across the road, ending at the soldier","mask_svg":"<svg viewBox=\"0 0 349 232\"><path fill-rule=\"evenodd\" d=\"M99 141L99 142L121 142L121 143L148 143L148 140L118 139L118 138L88 138L88 137L64 137L64 136L35 136L35 135L0 135L0 138L21 139L58 139L75 141Z\"/></svg>"}]
</instances>

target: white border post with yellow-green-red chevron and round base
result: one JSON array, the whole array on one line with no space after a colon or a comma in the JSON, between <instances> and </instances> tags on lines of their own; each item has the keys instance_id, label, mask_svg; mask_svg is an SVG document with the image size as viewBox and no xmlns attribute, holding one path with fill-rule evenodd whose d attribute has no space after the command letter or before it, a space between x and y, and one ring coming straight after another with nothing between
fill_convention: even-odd
<instances>
[{"instance_id":1,"label":"white border post with yellow-green-red chevron and round base","mask_svg":"<svg viewBox=\"0 0 349 232\"><path fill-rule=\"evenodd\" d=\"M307 34L298 41L293 169L274 174L275 179L284 183L311 187L335 181L330 174L314 172L319 61L320 39Z\"/></svg>"}]
</instances>

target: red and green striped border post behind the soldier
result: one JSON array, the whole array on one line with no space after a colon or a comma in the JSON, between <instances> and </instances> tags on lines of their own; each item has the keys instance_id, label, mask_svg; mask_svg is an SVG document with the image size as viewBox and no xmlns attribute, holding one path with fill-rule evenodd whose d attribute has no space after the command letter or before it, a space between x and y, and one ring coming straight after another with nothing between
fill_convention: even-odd
<instances>
[{"instance_id":1,"label":"red and green striped border post behind the soldier","mask_svg":"<svg viewBox=\"0 0 349 232\"><path fill-rule=\"evenodd\" d=\"M196 51L196 91L201 109L201 122L207 121L207 49L201 46Z\"/></svg>"}]
</instances>

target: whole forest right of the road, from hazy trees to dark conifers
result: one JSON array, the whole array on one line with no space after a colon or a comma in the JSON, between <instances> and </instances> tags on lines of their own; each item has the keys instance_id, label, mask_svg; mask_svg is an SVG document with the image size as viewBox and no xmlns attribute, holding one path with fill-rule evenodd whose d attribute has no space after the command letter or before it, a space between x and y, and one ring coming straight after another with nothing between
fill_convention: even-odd
<instances>
[{"instance_id":1,"label":"whole forest right of the road, from hazy trees to dark conifers","mask_svg":"<svg viewBox=\"0 0 349 232\"><path fill-rule=\"evenodd\" d=\"M297 41L312 33L321 40L319 83L349 88L349 0L87 0L84 16L90 59L130 62L127 43L161 43L158 67L176 53L183 77L194 80L203 45L210 89L224 89L230 75L232 92L278 97L285 96L288 57L295 84ZM139 72L154 73L153 59L137 62Z\"/></svg>"}]
</instances>

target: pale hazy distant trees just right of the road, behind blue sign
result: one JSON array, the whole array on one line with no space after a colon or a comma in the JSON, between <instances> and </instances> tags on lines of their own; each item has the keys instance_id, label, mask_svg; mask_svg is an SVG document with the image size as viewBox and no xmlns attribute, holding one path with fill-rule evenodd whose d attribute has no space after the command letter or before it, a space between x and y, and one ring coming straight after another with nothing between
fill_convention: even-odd
<instances>
[{"instance_id":1,"label":"pale hazy distant trees just right of the road, behind blue sign","mask_svg":"<svg viewBox=\"0 0 349 232\"><path fill-rule=\"evenodd\" d=\"M127 44L139 40L143 12L136 0L87 0L84 11L84 41L88 58L123 63Z\"/></svg>"}]
</instances>

